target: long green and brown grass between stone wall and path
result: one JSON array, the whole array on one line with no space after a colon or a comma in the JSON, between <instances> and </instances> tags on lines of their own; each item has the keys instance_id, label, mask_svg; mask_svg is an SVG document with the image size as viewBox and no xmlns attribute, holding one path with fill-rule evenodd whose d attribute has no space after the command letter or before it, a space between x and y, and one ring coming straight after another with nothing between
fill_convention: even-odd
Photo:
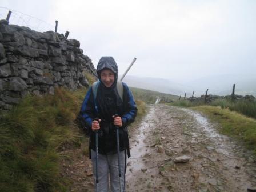
<instances>
[{"instance_id":1,"label":"long green and brown grass between stone wall and path","mask_svg":"<svg viewBox=\"0 0 256 192\"><path fill-rule=\"evenodd\" d=\"M86 89L55 89L55 95L29 96L0 114L0 191L69 191L61 176L66 147L87 141L74 124ZM146 104L136 101L138 119ZM83 155L89 153L83 149ZM72 157L70 157L72 158Z\"/></svg>"}]
</instances>

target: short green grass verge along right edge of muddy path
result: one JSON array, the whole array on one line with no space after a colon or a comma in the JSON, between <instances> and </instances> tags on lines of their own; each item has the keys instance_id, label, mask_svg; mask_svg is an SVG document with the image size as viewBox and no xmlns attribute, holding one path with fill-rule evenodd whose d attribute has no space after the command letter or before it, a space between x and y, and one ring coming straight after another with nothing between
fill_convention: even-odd
<instances>
[{"instance_id":1,"label":"short green grass verge along right edge of muddy path","mask_svg":"<svg viewBox=\"0 0 256 192\"><path fill-rule=\"evenodd\" d=\"M238 138L256 154L256 120L219 106L197 106L191 109L202 111L211 121L218 122L223 134Z\"/></svg>"}]
</instances>

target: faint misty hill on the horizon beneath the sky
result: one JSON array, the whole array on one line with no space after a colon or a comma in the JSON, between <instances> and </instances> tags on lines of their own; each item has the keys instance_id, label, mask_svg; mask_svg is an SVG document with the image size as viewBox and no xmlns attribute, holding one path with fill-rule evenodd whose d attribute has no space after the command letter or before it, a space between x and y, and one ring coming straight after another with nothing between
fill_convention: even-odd
<instances>
[{"instance_id":1,"label":"faint misty hill on the horizon beneath the sky","mask_svg":"<svg viewBox=\"0 0 256 192\"><path fill-rule=\"evenodd\" d=\"M256 96L256 77L254 77L254 75L218 75L199 78L184 83L177 83L164 78L127 75L123 79L123 82L126 82L131 87L149 89L173 95L184 95L186 92L187 97L190 97L193 91L195 91L195 96L198 97L205 94L206 89L209 89L208 94L229 95L235 83L235 94Z\"/></svg>"}]
</instances>

